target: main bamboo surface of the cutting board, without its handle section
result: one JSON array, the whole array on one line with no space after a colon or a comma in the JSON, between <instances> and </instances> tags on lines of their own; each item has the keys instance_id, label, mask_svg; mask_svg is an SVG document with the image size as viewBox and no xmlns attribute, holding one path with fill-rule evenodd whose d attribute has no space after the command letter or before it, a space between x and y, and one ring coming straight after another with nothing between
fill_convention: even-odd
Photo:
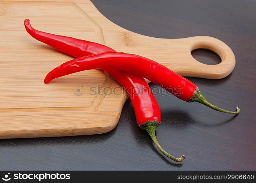
<instances>
[{"instance_id":1,"label":"main bamboo surface of the cutting board, without its handle section","mask_svg":"<svg viewBox=\"0 0 256 183\"><path fill-rule=\"evenodd\" d=\"M127 96L121 89L116 90L119 95L107 95L104 88L120 85L100 70L45 85L45 74L71 57L31 38L23 20L30 18L43 31L104 44L101 27L72 2L0 3L0 21L4 25L0 29L0 138L86 135L112 130ZM91 87L99 88L99 92L92 95Z\"/></svg>"}]
</instances>

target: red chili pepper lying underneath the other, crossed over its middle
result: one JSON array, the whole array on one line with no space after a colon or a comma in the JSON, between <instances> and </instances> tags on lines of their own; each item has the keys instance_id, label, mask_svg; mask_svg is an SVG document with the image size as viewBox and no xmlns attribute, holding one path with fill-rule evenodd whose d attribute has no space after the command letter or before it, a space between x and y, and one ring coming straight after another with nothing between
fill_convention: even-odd
<instances>
[{"instance_id":1,"label":"red chili pepper lying underneath the other, crossed over its middle","mask_svg":"<svg viewBox=\"0 0 256 183\"><path fill-rule=\"evenodd\" d=\"M114 51L114 49L95 42L38 31L30 25L29 19L24 21L24 25L27 32L38 41L44 42L45 44L74 57ZM103 70L112 75L125 87L133 104L138 125L142 129L148 131L157 148L170 159L178 162L183 161L185 158L184 155L182 155L181 158L175 158L168 154L157 142L155 130L156 127L159 126L161 120L160 109L145 79L134 75L129 71L120 71L119 69L112 68L104 68ZM134 93L135 89L140 89L140 91Z\"/></svg>"}]
</instances>

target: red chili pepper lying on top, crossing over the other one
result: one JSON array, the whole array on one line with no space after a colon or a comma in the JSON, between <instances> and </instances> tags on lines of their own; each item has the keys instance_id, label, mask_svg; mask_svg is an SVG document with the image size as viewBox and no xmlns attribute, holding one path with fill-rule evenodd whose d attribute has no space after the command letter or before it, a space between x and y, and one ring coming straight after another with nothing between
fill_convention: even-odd
<instances>
[{"instance_id":1,"label":"red chili pepper lying on top, crossing over the other one","mask_svg":"<svg viewBox=\"0 0 256 183\"><path fill-rule=\"evenodd\" d=\"M103 52L67 61L49 72L44 82L48 83L52 81L52 79L74 72L109 67L126 70L149 79L184 101L197 101L212 109L225 113L238 114L240 112L238 107L237 111L233 112L210 104L205 100L194 83L171 71L167 67L145 57L122 52Z\"/></svg>"}]
</instances>

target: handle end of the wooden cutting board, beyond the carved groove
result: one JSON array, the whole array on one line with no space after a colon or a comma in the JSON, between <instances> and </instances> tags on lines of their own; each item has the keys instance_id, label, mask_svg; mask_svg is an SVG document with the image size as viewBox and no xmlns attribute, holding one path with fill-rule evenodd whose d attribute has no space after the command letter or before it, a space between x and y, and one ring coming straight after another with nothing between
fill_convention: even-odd
<instances>
[{"instance_id":1,"label":"handle end of the wooden cutting board, beyond the carved groove","mask_svg":"<svg viewBox=\"0 0 256 183\"><path fill-rule=\"evenodd\" d=\"M82 7L82 8L80 8ZM116 51L133 53L157 61L182 76L221 79L235 67L235 56L224 42L209 36L194 36L179 39L156 38L134 33L107 19L92 2L78 4L81 15L94 27L97 42ZM86 39L86 38L85 38ZM217 53L221 63L203 64L191 55L197 48Z\"/></svg>"}]
</instances>

